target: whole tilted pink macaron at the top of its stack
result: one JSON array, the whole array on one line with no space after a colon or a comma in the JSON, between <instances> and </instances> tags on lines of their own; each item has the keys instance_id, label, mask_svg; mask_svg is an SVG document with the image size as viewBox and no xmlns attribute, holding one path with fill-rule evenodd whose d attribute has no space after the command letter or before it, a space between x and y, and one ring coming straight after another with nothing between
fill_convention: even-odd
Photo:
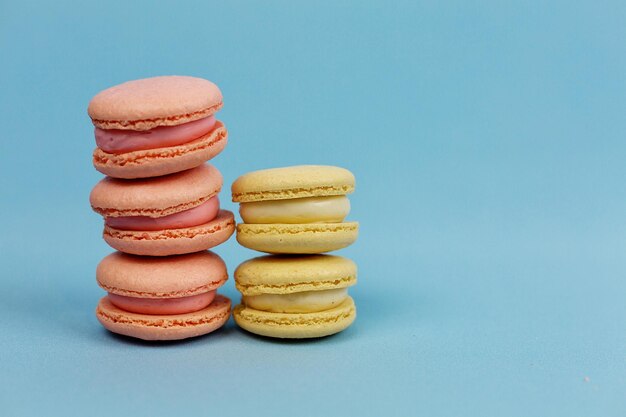
<instances>
[{"instance_id":1,"label":"whole tilted pink macaron at the top of its stack","mask_svg":"<svg viewBox=\"0 0 626 417\"><path fill-rule=\"evenodd\" d=\"M227 131L214 113L222 93L210 81L165 76L108 88L89 103L95 168L116 178L147 178L196 167L220 153Z\"/></svg>"}]
</instances>

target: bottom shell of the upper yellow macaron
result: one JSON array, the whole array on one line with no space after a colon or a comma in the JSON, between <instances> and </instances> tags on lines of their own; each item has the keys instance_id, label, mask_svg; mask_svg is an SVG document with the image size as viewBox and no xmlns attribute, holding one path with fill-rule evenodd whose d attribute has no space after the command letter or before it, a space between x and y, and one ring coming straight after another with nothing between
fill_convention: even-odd
<instances>
[{"instance_id":1,"label":"bottom shell of the upper yellow macaron","mask_svg":"<svg viewBox=\"0 0 626 417\"><path fill-rule=\"evenodd\" d=\"M267 253L312 254L345 248L359 234L358 222L237 225L237 241Z\"/></svg>"}]
</instances>

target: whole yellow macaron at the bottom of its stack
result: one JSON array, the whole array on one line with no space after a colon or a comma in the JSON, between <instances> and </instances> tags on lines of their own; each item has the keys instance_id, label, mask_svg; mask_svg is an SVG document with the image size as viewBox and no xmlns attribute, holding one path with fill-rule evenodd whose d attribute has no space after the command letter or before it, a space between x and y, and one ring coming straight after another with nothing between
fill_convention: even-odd
<instances>
[{"instance_id":1,"label":"whole yellow macaron at the bottom of its stack","mask_svg":"<svg viewBox=\"0 0 626 417\"><path fill-rule=\"evenodd\" d=\"M239 265L242 293L233 310L243 329L277 338L312 338L338 333L356 318L348 287L357 268L332 255L263 256Z\"/></svg>"}]
</instances>

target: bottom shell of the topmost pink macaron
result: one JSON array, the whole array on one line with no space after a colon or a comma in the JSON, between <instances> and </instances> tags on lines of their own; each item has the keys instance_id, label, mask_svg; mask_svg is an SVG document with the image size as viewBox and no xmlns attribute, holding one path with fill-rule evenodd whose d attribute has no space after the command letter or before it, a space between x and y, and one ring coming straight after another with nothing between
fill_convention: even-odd
<instances>
[{"instance_id":1,"label":"bottom shell of the topmost pink macaron","mask_svg":"<svg viewBox=\"0 0 626 417\"><path fill-rule=\"evenodd\" d=\"M111 154L96 148L93 166L114 178L148 178L197 167L224 150L228 132L217 121L216 128L192 142L166 148Z\"/></svg>"}]
</instances>

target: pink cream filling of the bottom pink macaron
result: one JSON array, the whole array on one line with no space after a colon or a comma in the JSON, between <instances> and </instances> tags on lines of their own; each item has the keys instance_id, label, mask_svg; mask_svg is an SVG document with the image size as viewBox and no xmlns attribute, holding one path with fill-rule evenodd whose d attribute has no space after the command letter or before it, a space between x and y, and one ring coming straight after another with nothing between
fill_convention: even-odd
<instances>
[{"instance_id":1,"label":"pink cream filling of the bottom pink macaron","mask_svg":"<svg viewBox=\"0 0 626 417\"><path fill-rule=\"evenodd\" d=\"M215 290L189 297L138 298L111 294L109 300L118 308L139 314L185 314L202 310L215 298Z\"/></svg>"}]
</instances>

